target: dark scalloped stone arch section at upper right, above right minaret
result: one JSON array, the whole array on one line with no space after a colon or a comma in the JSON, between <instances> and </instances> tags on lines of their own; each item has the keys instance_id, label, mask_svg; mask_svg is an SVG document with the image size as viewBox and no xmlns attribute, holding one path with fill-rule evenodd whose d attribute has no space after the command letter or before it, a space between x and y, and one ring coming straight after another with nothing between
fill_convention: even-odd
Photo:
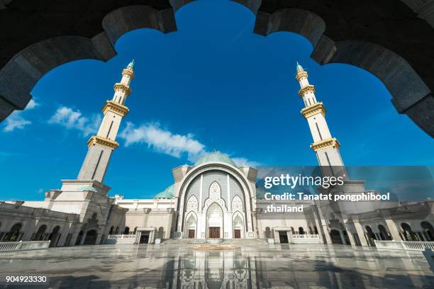
<instances>
[{"instance_id":1,"label":"dark scalloped stone arch section at upper right, above right minaret","mask_svg":"<svg viewBox=\"0 0 434 289\"><path fill-rule=\"evenodd\" d=\"M311 1L301 3L306 2ZM389 39L389 42L384 42L381 38L365 37L364 34L355 33L355 31L342 30L338 33L339 23L336 21L348 21L348 19L342 15L336 15L333 18L332 15L336 14L336 11L332 10L325 13L323 9L323 13L318 16L314 12L321 11L321 9L314 8L313 5L286 1L286 4L281 4L281 6L290 6L291 8L277 9L277 6L279 5L275 1L262 1L262 6L257 11L255 33L260 35L269 35L276 31L298 33L311 42L313 45L311 57L319 64L351 64L374 74L391 93L391 102L396 111L406 113L428 135L434 136L434 97L432 93L434 67L430 72L425 71L425 69L419 69L416 72L408 61L411 61L414 54L417 53L408 54L408 51L402 49L402 46L405 45L402 45L401 42L398 43L396 39ZM301 6L308 8L308 10L301 9ZM405 5L402 8L404 11L409 9ZM325 17L322 18L321 16ZM366 22L369 23L369 21L372 20L368 18ZM427 23L422 22L419 23L420 26L423 26L423 30L433 35L434 38L434 30ZM369 24L366 25L369 26ZM372 34L372 31L367 30L366 33L369 35ZM408 38L414 38L414 34L409 34ZM382 45L383 43L385 46ZM430 41L429 46L434 49L434 41ZM434 62L434 59L431 61ZM431 75L428 77L426 74Z\"/></svg>"}]
</instances>

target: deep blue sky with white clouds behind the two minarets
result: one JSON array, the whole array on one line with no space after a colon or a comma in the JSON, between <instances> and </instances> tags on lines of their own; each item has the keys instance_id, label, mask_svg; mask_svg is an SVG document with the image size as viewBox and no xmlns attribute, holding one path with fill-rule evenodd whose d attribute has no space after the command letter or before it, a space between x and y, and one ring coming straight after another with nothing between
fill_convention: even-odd
<instances>
[{"instance_id":1,"label":"deep blue sky with white clouds behind the two minarets","mask_svg":"<svg viewBox=\"0 0 434 289\"><path fill-rule=\"evenodd\" d=\"M228 0L196 1L176 19L177 32L134 30L116 42L109 62L71 62L40 79L28 108L0 123L0 199L40 200L60 179L77 177L101 107L132 58L130 113L105 179L111 195L155 196L172 183L174 167L213 149L252 164L316 165L297 60L327 108L346 165L434 164L433 139L396 113L368 72L318 65L300 35L253 34L255 16ZM131 128L143 137L133 140Z\"/></svg>"}]
</instances>

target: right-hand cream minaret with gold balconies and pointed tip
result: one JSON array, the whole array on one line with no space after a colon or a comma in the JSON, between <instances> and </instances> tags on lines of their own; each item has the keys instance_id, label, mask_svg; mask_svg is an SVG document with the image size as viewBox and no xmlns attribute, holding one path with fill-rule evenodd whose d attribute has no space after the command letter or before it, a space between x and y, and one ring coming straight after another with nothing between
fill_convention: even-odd
<instances>
[{"instance_id":1,"label":"right-hand cream minaret with gold balconies and pointed tip","mask_svg":"<svg viewBox=\"0 0 434 289\"><path fill-rule=\"evenodd\" d=\"M304 106L301 114L308 121L313 137L311 149L316 153L318 163L327 176L345 174L343 162L340 157L340 144L332 137L325 121L325 107L323 103L316 101L315 86L309 84L308 73L297 62L296 79L300 84L299 95L303 98ZM325 169L329 167L330 169ZM336 168L335 168L336 167Z\"/></svg>"}]
</instances>

